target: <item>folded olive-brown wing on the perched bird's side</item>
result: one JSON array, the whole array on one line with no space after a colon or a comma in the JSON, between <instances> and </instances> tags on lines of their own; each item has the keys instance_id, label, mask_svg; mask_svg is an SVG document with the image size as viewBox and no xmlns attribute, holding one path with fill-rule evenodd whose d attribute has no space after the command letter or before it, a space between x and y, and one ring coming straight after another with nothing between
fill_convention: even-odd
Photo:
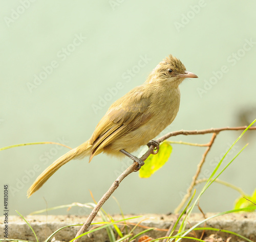
<instances>
[{"instance_id":1,"label":"folded olive-brown wing on the perched bird's side","mask_svg":"<svg viewBox=\"0 0 256 242\"><path fill-rule=\"evenodd\" d=\"M134 88L113 103L91 137L90 160L113 140L146 123L152 116L148 111L150 105L150 96L145 94L144 86Z\"/></svg>"}]
</instances>

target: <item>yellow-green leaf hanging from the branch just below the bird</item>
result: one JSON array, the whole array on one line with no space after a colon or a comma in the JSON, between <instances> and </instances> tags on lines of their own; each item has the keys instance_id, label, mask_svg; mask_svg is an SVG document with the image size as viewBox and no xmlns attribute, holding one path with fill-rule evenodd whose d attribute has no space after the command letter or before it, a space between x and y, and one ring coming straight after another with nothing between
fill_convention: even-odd
<instances>
[{"instance_id":1,"label":"yellow-green leaf hanging from the branch just below the bird","mask_svg":"<svg viewBox=\"0 0 256 242\"><path fill-rule=\"evenodd\" d=\"M168 142L162 142L159 146L159 151L156 155L150 155L145 160L145 164L140 168L139 176L141 178L151 177L157 170L159 170L170 157L172 153L172 146Z\"/></svg>"}]
</instances>

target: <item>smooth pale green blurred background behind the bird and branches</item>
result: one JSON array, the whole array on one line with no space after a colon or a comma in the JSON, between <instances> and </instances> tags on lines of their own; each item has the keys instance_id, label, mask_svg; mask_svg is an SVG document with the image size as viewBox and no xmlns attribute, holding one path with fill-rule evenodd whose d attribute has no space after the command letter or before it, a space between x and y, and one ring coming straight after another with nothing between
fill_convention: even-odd
<instances>
[{"instance_id":1,"label":"smooth pale green blurred background behind the bird and branches","mask_svg":"<svg viewBox=\"0 0 256 242\"><path fill-rule=\"evenodd\" d=\"M181 86L178 116L162 135L248 125L256 118L256 2L193 1L2 1L0 3L0 147L52 141L75 148L89 139L108 107L142 84L169 54L199 76ZM140 66L139 66L140 63ZM141 63L143 63L141 65ZM209 152L207 178L241 131L224 131ZM206 143L211 134L171 140ZM227 155L220 176L251 194L255 182L255 131ZM104 154L61 167L30 199L36 177L69 149L55 144L0 152L1 199L9 185L10 214L73 202L98 201L132 162ZM178 206L205 148L173 144L164 168L151 178L124 179L114 197L124 213L168 213ZM137 155L136 153L135 155ZM202 185L198 185L199 194ZM212 184L200 200L204 212L232 209L239 193ZM2 200L3 201L3 200ZM119 212L113 198L103 209ZM72 208L48 214L86 214Z\"/></svg>"}]
</instances>

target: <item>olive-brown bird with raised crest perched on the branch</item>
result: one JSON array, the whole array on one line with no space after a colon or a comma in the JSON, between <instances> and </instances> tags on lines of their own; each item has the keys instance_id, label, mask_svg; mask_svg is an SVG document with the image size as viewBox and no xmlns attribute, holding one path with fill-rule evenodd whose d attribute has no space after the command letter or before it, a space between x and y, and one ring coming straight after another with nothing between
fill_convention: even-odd
<instances>
[{"instance_id":1,"label":"olive-brown bird with raised crest perched on the branch","mask_svg":"<svg viewBox=\"0 0 256 242\"><path fill-rule=\"evenodd\" d=\"M140 162L140 158L131 153L146 144L159 147L153 138L175 119L180 106L179 85L185 78L198 76L187 71L178 58L168 55L142 85L133 88L110 106L89 140L59 157L37 177L28 189L28 197L62 165L74 158L89 156L90 162L103 152L116 157L127 155Z\"/></svg>"}]
</instances>

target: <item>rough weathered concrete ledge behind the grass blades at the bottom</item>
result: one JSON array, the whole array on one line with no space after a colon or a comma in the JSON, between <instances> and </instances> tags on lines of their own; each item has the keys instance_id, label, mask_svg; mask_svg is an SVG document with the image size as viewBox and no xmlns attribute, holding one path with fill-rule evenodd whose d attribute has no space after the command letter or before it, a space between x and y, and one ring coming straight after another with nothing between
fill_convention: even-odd
<instances>
[{"instance_id":1,"label":"rough weathered concrete ledge behind the grass blades at the bottom","mask_svg":"<svg viewBox=\"0 0 256 242\"><path fill-rule=\"evenodd\" d=\"M207 213L206 216L209 217L213 215L214 213ZM125 217L132 217L134 215L126 215ZM114 220L120 220L122 217L120 215L114 215ZM56 231L57 229L72 225L72 224L82 224L84 221L86 221L87 217L85 216L75 216L75 215L29 215L26 216L26 220L30 223L32 228L34 229L38 240L44 241L51 233ZM143 214L143 217L135 220L129 220L127 223L131 224L131 228L134 226L133 224L142 221L143 219L147 219L141 223L142 226L148 226L148 227L155 227L159 229L168 229L170 224L174 220L176 220L176 215L161 215L161 214ZM5 217L0 217L0 238L4 237L4 220ZM203 220L202 214L192 214L190 217L190 224L191 226L195 225L196 223ZM100 222L101 219L99 216L96 217L94 222ZM200 227L203 227L204 224L202 224ZM256 240L256 213L233 213L233 214L227 214L224 216L219 216L215 219L209 220L207 222L207 227L214 227L218 229L226 229L230 230L232 232L236 232L240 235L243 235L247 238L250 238L251 240ZM69 241L72 238L75 237L77 230L80 227L74 226L74 227L68 227L65 228L58 233L55 234L56 240L60 241ZM92 228L92 226L91 226ZM137 228L135 230L135 234L138 232L144 230L145 228ZM201 234L202 231L198 232L198 234ZM158 238L161 236L165 236L165 231L160 230L153 230L147 233L148 236L151 236L152 238ZM214 234L213 231L205 231L205 235L209 236L210 234ZM236 236L230 235L228 233L223 232L216 232L218 235L220 235L223 239L226 239L227 237L232 237L230 241L244 241L243 239L239 239ZM26 222L19 216L9 216L8 221L8 238L12 239L24 239L24 240L30 240L30 241L36 241L34 234L26 224ZM105 229L96 231L88 236L84 236L82 241L109 241L108 235L106 234ZM185 240L184 240L185 241ZM191 240L190 240L191 241ZM215 240L212 240L215 241ZM217 240L216 240L217 241ZM220 241L220 240L218 240Z\"/></svg>"}]
</instances>

